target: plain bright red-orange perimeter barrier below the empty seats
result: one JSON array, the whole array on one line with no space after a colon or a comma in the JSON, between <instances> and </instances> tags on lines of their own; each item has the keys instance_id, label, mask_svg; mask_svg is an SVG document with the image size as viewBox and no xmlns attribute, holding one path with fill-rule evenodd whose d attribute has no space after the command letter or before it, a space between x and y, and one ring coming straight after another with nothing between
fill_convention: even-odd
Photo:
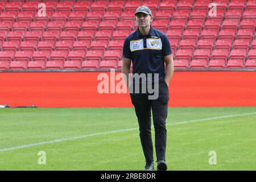
<instances>
[{"instance_id":1,"label":"plain bright red-orange perimeter barrier below the empty seats","mask_svg":"<svg viewBox=\"0 0 256 182\"><path fill-rule=\"evenodd\" d=\"M2 72L0 105L131 107L129 94L100 94L101 72ZM104 73L110 77L110 72ZM113 73L112 73L113 74ZM115 73L117 75L118 72ZM118 80L115 81L117 84ZM256 106L256 72L175 72L169 106Z\"/></svg>"}]
</instances>

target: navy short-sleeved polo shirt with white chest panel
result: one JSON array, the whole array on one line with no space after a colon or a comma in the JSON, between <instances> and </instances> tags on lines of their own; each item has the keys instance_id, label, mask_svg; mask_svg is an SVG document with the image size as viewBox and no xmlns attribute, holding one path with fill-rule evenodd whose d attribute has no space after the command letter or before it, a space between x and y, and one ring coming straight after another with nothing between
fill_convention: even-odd
<instances>
[{"instance_id":1,"label":"navy short-sleeved polo shirt with white chest panel","mask_svg":"<svg viewBox=\"0 0 256 182\"><path fill-rule=\"evenodd\" d=\"M123 57L131 59L133 74L158 73L159 82L164 81L165 75L163 57L171 53L172 49L166 34L151 26L149 35L142 35L138 28L127 36L123 44Z\"/></svg>"}]
</instances>

